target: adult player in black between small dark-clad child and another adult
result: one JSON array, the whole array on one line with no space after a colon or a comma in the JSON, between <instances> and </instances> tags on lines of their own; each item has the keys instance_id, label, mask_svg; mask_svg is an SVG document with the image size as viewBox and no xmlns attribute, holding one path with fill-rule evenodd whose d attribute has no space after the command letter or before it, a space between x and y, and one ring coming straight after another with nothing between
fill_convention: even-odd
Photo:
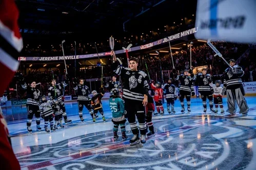
<instances>
[{"instance_id":1,"label":"adult player in black between small dark-clad child and another adult","mask_svg":"<svg viewBox=\"0 0 256 170\"><path fill-rule=\"evenodd\" d=\"M178 75L175 80L180 80L181 87L180 87L180 101L181 101L181 113L185 113L184 108L184 98L187 99L187 105L188 105L188 114L191 112L190 109L190 98L191 96L194 96L194 86L193 86L193 80L189 76L189 74L192 74L192 72L189 73L188 70L184 70L184 74Z\"/></svg>"}]
</instances>

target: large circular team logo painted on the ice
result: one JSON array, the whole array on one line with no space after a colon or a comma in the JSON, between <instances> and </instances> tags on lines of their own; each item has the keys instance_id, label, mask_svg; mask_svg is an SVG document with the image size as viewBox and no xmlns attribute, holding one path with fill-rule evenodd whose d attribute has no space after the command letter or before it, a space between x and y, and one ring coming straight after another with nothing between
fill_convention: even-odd
<instances>
[{"instance_id":1,"label":"large circular team logo painted on the ice","mask_svg":"<svg viewBox=\"0 0 256 170\"><path fill-rule=\"evenodd\" d=\"M155 120L155 136L144 145L130 146L133 135L129 131L125 141L120 132L119 139L113 141L113 132L104 131L30 146L30 152L16 156L28 169L236 169L251 161L248 138L255 139L256 133L234 123L189 116Z\"/></svg>"}]
</instances>

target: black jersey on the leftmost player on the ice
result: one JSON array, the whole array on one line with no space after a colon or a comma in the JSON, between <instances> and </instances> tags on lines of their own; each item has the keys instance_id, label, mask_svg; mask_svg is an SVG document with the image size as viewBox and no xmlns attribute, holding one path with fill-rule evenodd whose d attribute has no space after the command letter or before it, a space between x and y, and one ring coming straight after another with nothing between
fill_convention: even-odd
<instances>
[{"instance_id":1,"label":"black jersey on the leftmost player on the ice","mask_svg":"<svg viewBox=\"0 0 256 170\"><path fill-rule=\"evenodd\" d=\"M31 86L27 86L26 82L22 84L22 88L27 92L27 104L39 105L40 91Z\"/></svg>"}]
</instances>

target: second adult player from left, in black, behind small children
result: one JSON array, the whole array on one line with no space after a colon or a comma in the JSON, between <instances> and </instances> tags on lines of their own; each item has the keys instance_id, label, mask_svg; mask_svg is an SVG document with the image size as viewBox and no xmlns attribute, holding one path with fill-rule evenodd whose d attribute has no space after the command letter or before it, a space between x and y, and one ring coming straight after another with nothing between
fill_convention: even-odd
<instances>
[{"instance_id":1,"label":"second adult player from left, in black, behind small children","mask_svg":"<svg viewBox=\"0 0 256 170\"><path fill-rule=\"evenodd\" d=\"M48 89L48 97L50 100L56 99L58 100L58 105L60 106L60 109L62 110L62 114L55 115L55 126L57 126L57 123L60 121L61 128L64 128L62 124L62 117L64 117L65 124L70 124L72 120L69 120L67 118L66 108L63 96L63 91L65 87L68 86L68 79L66 78L65 81L62 84L56 84L56 79L51 80L51 87Z\"/></svg>"}]
</instances>

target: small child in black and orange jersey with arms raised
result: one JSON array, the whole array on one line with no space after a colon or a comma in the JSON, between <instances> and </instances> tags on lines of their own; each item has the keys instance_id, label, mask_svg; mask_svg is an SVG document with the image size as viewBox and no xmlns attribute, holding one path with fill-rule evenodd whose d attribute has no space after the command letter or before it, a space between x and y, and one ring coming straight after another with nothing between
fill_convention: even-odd
<instances>
[{"instance_id":1,"label":"small child in black and orange jersey with arms raised","mask_svg":"<svg viewBox=\"0 0 256 170\"><path fill-rule=\"evenodd\" d=\"M106 121L105 116L104 116L104 112L103 112L103 108L102 108L102 97L104 96L105 91L103 88L100 88L100 93L97 93L96 90L92 91L92 98L91 98L91 107L93 108L93 122L96 121L95 116L98 113L98 111L101 113L102 115L102 119L103 121Z\"/></svg>"}]
</instances>

